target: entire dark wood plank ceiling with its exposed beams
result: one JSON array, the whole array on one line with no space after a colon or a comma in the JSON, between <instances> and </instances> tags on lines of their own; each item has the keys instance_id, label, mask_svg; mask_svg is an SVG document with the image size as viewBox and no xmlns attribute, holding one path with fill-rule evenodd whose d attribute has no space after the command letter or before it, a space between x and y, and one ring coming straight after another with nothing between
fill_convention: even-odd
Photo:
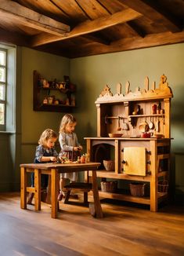
<instances>
[{"instance_id":1,"label":"entire dark wood plank ceiling with its exposed beams","mask_svg":"<svg viewBox=\"0 0 184 256\"><path fill-rule=\"evenodd\" d=\"M0 0L0 42L85 57L184 42L183 0Z\"/></svg>"}]
</instances>

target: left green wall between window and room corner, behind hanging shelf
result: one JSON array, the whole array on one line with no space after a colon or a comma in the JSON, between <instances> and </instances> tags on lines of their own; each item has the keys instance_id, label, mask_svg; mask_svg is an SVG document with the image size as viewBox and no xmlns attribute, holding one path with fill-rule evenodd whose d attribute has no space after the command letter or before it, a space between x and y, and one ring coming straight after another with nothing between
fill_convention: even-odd
<instances>
[{"instance_id":1,"label":"left green wall between window and room corner, behind hanging shelf","mask_svg":"<svg viewBox=\"0 0 184 256\"><path fill-rule=\"evenodd\" d=\"M51 128L58 132L63 116L60 112L33 111L33 71L37 70L45 79L63 81L63 75L69 75L70 62L27 48L22 48L21 60L21 163L31 163L42 131Z\"/></svg>"}]
</instances>

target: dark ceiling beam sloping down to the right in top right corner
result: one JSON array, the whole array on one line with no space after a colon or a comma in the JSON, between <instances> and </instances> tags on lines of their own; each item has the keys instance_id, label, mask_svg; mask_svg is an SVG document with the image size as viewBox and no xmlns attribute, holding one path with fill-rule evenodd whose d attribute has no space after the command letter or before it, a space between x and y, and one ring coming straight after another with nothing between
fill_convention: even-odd
<instances>
[{"instance_id":1,"label":"dark ceiling beam sloping down to the right in top right corner","mask_svg":"<svg viewBox=\"0 0 184 256\"><path fill-rule=\"evenodd\" d=\"M167 27L169 31L175 33L182 31L178 22L175 21L173 17L168 17L165 13L161 13L161 11L155 9L151 5L146 4L141 0L117 0L124 5L127 5L129 8L134 9L135 11L142 13L143 16L146 16L150 20L153 20L156 24L163 24L164 27ZM155 1L154 3L155 4ZM161 9L161 8L160 8Z\"/></svg>"}]
</instances>

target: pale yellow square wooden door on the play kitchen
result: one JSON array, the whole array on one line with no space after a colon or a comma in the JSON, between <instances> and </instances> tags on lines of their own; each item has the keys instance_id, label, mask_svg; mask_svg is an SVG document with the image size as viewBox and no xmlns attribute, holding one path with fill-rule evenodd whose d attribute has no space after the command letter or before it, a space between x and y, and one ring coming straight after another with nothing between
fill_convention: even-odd
<instances>
[{"instance_id":1,"label":"pale yellow square wooden door on the play kitchen","mask_svg":"<svg viewBox=\"0 0 184 256\"><path fill-rule=\"evenodd\" d=\"M124 173L146 176L146 148L124 148Z\"/></svg>"}]
</instances>

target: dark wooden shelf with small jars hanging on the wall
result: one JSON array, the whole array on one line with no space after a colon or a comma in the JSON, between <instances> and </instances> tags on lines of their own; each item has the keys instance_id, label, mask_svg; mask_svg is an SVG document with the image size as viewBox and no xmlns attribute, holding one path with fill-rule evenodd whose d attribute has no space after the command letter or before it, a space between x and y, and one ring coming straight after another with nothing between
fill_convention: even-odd
<instances>
[{"instance_id":1,"label":"dark wooden shelf with small jars hanging on the wall","mask_svg":"<svg viewBox=\"0 0 184 256\"><path fill-rule=\"evenodd\" d=\"M41 80L47 85L41 84ZM75 108L75 90L65 88L54 88L49 86L46 79L41 79L38 71L33 72L33 109L39 112L72 112ZM56 100L54 98L56 97ZM58 98L65 98L67 101L59 101ZM50 98L50 99L49 99ZM52 102L49 103L49 100ZM46 101L46 102L45 102ZM67 102L67 104L66 104Z\"/></svg>"}]
</instances>

